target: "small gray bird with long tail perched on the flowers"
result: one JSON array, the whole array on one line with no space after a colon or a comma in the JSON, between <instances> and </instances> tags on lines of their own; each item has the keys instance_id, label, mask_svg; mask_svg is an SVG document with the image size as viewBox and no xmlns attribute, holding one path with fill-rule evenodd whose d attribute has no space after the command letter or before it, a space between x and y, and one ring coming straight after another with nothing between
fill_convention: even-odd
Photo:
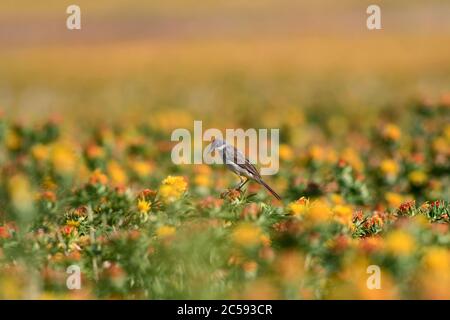
<instances>
[{"instance_id":1,"label":"small gray bird with long tail perched on the flowers","mask_svg":"<svg viewBox=\"0 0 450 320\"><path fill-rule=\"evenodd\" d=\"M258 170L254 165L248 161L248 159L237 150L232 145L227 144L225 141L220 139L213 139L211 146L209 148L209 152L217 150L220 156L223 159L223 163L225 163L231 171L239 176L241 182L237 186L237 190L241 190L241 188L250 180L254 180L259 184L263 185L275 198L281 200L281 197L276 193L269 185L267 185ZM247 179L244 179L246 177Z\"/></svg>"}]
</instances>

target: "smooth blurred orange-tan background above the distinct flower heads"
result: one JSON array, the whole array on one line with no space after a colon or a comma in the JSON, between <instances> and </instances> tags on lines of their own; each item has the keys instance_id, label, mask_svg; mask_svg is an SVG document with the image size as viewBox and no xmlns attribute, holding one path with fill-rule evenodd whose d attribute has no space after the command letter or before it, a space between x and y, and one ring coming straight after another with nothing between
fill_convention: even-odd
<instances>
[{"instance_id":1,"label":"smooth blurred orange-tan background above the distinct flower heads","mask_svg":"<svg viewBox=\"0 0 450 320\"><path fill-rule=\"evenodd\" d=\"M450 2L376 1L383 29L369 31L372 3L2 0L0 109L83 123L164 110L168 126L183 124L168 111L218 127L291 107L397 118L449 88ZM81 30L66 29L71 4Z\"/></svg>"}]
</instances>

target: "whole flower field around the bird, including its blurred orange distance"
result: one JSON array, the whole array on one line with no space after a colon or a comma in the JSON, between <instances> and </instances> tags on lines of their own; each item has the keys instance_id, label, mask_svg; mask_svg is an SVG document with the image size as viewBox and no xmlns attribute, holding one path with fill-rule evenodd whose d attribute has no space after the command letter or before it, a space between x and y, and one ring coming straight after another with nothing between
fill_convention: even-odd
<instances>
[{"instance_id":1,"label":"whole flower field around the bird, including its blurred orange distance","mask_svg":"<svg viewBox=\"0 0 450 320\"><path fill-rule=\"evenodd\" d=\"M0 299L450 299L449 4L16 3ZM279 129L282 200L174 164L196 120Z\"/></svg>"}]
</instances>

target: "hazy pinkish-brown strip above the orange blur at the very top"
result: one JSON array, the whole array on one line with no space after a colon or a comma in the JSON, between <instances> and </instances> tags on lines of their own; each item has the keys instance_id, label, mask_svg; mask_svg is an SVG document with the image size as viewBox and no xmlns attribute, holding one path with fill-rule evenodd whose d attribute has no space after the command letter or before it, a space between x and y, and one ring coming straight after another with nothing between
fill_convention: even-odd
<instances>
[{"instance_id":1,"label":"hazy pinkish-brown strip above the orange blur at the very top","mask_svg":"<svg viewBox=\"0 0 450 320\"><path fill-rule=\"evenodd\" d=\"M367 36L366 8L355 0L339 4L321 0L142 1L6 0L0 4L2 48L73 45L120 41L198 40L344 35ZM80 6L82 30L65 28L70 4ZM442 1L378 1L384 33L392 35L450 35L450 3Z\"/></svg>"}]
</instances>

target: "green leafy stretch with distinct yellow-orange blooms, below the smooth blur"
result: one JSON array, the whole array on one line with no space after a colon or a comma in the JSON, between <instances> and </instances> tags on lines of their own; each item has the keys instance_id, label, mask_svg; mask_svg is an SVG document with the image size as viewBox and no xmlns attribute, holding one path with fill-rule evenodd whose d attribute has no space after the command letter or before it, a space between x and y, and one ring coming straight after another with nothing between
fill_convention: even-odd
<instances>
[{"instance_id":1,"label":"green leafy stretch with distinct yellow-orange blooms, below the smooth blur","mask_svg":"<svg viewBox=\"0 0 450 320\"><path fill-rule=\"evenodd\" d=\"M173 167L158 125L81 141L57 120L3 117L0 296L448 299L449 107L349 129L341 149L292 147L308 115L291 117L270 178L282 202L255 184L224 194L235 181L220 167ZM74 264L80 290L66 287Z\"/></svg>"}]
</instances>

